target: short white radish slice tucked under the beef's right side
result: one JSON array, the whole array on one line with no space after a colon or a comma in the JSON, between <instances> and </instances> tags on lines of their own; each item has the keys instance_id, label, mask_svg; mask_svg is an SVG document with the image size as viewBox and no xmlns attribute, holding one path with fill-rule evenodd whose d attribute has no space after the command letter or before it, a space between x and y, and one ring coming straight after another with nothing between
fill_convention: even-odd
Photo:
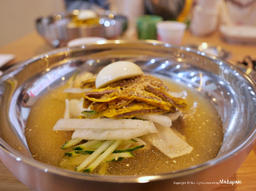
<instances>
[{"instance_id":1,"label":"short white radish slice tucked under the beef's right side","mask_svg":"<svg viewBox=\"0 0 256 191\"><path fill-rule=\"evenodd\" d=\"M154 123L159 123L162 126L165 127L171 127L172 126L172 120L167 117L167 116L163 116L160 114L141 114L141 115L136 115L136 118L139 119L144 119L144 120L148 120L148 121L152 121Z\"/></svg>"}]
</instances>

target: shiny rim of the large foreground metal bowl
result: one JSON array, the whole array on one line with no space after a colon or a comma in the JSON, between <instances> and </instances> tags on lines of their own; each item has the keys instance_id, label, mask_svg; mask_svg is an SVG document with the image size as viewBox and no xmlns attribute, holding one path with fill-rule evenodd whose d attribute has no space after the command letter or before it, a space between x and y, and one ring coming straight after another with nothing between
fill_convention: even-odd
<instances>
[{"instance_id":1,"label":"shiny rim of the large foreground metal bowl","mask_svg":"<svg viewBox=\"0 0 256 191\"><path fill-rule=\"evenodd\" d=\"M161 41L157 41L157 40L136 40L136 41L131 41L131 40L103 40L102 43L104 44L125 44L125 43L143 43L143 44L150 44L150 45L158 45L158 46L165 46L165 47L177 47L180 48L182 50L186 50L186 51L191 51L194 52L196 54L199 55L203 55L209 59L216 59L217 57L213 56L213 55L209 55L208 53L199 51L199 50L195 50L193 48L190 47L184 47L184 46L177 46L177 45L171 45L168 43L164 43ZM98 43L89 43L86 44L86 46L90 46L90 45L97 45ZM0 81L2 79L4 79L4 76L6 75L11 75L13 72L18 72L19 70L17 69L21 69L22 67L25 67L27 64L29 64L30 62L33 62L37 59L41 59L42 57L44 57L45 55L52 55L54 53L57 52L61 52L61 51L69 51L70 49L76 49L76 48L86 48L86 46L84 45L79 45L79 46L75 46L75 47L61 47L61 48L57 48L54 49L50 52L45 52L45 53L41 53L40 55L34 56L31 59L28 59L18 65L15 65L13 67L11 67L10 69L8 69L6 72L4 72L2 74L2 76L0 76ZM218 58L218 60L221 60L220 58ZM228 61L225 60L221 60L222 62L224 62L225 64L227 64L229 67L233 68L234 66L229 63ZM237 70L236 68L234 68L234 70ZM237 70L238 73L244 75L246 78L251 79L247 74L245 74L243 71ZM254 81L252 80L250 82L256 89L256 85L254 83ZM60 176L66 176L66 177L71 177L72 178L78 178L81 180L90 180L90 181L98 181L98 182L119 182L119 183L138 183L138 182L150 182L150 181L156 181L156 180L164 180L164 179L170 179L170 178L177 178L177 177L182 177L182 176L187 176L187 175L192 175L195 172L199 172L202 171L204 169L207 168L211 168L213 166L216 166L220 163L223 163L224 161L232 158L234 155L236 155L239 152L242 152L243 150L245 150L246 148L248 148L251 145L254 145L256 142L256 127L254 127L253 131L250 132L250 134L247 136L247 138L243 141L242 144L240 144L238 147L234 148L231 152L228 152L227 154L218 157L218 158L214 158L211 159L203 164L199 164L199 165L195 165L192 166L190 168L187 169L183 169L183 170L179 170L177 172L170 172L170 173L165 173L165 174L159 174L159 175L143 175L143 176L102 176L102 175L86 175L86 174L79 174L77 172L73 172L73 171L69 171L69 170L65 170L65 169L61 169L58 167L54 167L51 165L47 165L44 163L41 163L33 158L30 158L28 156L22 155L21 153L19 153L18 151L14 150L12 147L10 147L6 142L4 142L1 138L0 138L0 148L1 150L3 150L4 152L6 152L7 154L9 154L10 156L12 156L13 158L16 158L17 160L20 160L21 162L28 164L32 167L38 168L42 171L47 171L49 173L52 174L57 174Z\"/></svg>"}]
</instances>

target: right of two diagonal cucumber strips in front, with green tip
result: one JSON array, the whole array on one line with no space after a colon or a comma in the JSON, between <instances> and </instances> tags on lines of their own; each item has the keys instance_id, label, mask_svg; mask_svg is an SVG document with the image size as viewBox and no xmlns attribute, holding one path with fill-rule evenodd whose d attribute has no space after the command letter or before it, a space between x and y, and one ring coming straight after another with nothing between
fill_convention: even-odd
<instances>
[{"instance_id":1,"label":"right of two diagonal cucumber strips in front, with green tip","mask_svg":"<svg viewBox=\"0 0 256 191\"><path fill-rule=\"evenodd\" d=\"M110 140L108 140L110 141ZM91 172L93 171L101 162L105 160L106 157L108 157L113 151L122 143L123 140L115 140L112 142L112 144L105 150L99 157L97 157L88 167L86 167L83 171L84 172ZM106 141L107 142L107 141ZM99 147L100 148L100 147ZM95 150L96 152L97 150ZM94 153L95 153L94 152ZM94 154L93 153L93 154ZM91 154L90 156L92 156ZM89 156L89 157L90 157Z\"/></svg>"}]
</instances>

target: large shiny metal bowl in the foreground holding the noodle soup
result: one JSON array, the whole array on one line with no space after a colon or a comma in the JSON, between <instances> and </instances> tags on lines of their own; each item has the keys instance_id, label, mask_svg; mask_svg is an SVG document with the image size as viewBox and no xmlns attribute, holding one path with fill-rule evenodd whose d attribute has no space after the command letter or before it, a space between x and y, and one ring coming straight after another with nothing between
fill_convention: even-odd
<instances>
[{"instance_id":1,"label":"large shiny metal bowl in the foreground holding the noodle soup","mask_svg":"<svg viewBox=\"0 0 256 191\"><path fill-rule=\"evenodd\" d=\"M33 159L23 131L34 102L78 70L97 73L117 60L133 61L145 72L179 81L207 96L224 127L217 157L172 173L128 177L80 174ZM34 96L28 96L29 91ZM33 190L210 190L217 184L188 183L227 180L244 162L256 139L255 94L249 74L187 47L153 40L106 40L59 48L16 65L0 77L0 159Z\"/></svg>"}]
</instances>

